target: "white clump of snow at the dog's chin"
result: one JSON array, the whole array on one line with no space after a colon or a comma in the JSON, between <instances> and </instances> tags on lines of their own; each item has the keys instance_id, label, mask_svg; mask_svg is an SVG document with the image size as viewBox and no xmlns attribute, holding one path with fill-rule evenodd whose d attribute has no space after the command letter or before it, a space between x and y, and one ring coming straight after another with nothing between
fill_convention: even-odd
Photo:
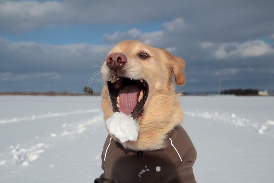
<instances>
[{"instance_id":1,"label":"white clump of snow at the dog's chin","mask_svg":"<svg viewBox=\"0 0 274 183\"><path fill-rule=\"evenodd\" d=\"M131 115L122 112L114 112L112 116L105 122L109 133L117 137L121 143L136 141L138 137L139 125L133 120Z\"/></svg>"}]
</instances>

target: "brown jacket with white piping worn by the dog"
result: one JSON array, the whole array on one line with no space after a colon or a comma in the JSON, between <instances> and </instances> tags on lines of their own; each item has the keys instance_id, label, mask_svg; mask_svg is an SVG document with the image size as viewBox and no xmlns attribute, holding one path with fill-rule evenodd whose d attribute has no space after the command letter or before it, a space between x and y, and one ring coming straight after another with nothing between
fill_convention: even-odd
<instances>
[{"instance_id":1,"label":"brown jacket with white piping worn by the dog","mask_svg":"<svg viewBox=\"0 0 274 183\"><path fill-rule=\"evenodd\" d=\"M161 150L136 152L107 136L102 152L104 173L94 183L196 182L192 170L196 150L184 128L176 127L166 143Z\"/></svg>"}]
</instances>

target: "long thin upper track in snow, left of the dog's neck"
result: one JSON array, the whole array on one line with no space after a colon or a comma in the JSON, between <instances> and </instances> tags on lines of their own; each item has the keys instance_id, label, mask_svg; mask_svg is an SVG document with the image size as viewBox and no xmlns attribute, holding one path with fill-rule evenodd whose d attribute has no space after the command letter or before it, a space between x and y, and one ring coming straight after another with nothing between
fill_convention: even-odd
<instances>
[{"instance_id":1,"label":"long thin upper track in snow, left of the dog's neck","mask_svg":"<svg viewBox=\"0 0 274 183\"><path fill-rule=\"evenodd\" d=\"M89 110L76 110L73 112L56 112L51 113L48 112L47 114L43 115L32 115L32 116L25 116L25 117L14 117L11 119L0 119L0 125L5 123L16 123L16 122L22 122L22 121L30 121L30 120L36 120L36 119L42 119L42 118L48 118L48 117L59 117L59 116L68 116L68 115L75 115L75 114L85 114L85 113L92 113L92 112L99 112L101 109L89 109Z\"/></svg>"}]
</instances>

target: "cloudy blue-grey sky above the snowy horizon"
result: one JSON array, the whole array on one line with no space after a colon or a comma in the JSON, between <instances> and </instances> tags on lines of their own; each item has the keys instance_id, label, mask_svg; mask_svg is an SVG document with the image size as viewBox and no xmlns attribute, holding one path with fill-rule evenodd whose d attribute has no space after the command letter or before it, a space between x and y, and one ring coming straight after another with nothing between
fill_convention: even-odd
<instances>
[{"instance_id":1,"label":"cloudy blue-grey sky above the snowy horizon","mask_svg":"<svg viewBox=\"0 0 274 183\"><path fill-rule=\"evenodd\" d=\"M0 0L0 92L81 93L92 80L99 93L96 71L122 40L182 57L186 83L177 91L217 92L218 83L274 91L273 7L273 0Z\"/></svg>"}]
</instances>

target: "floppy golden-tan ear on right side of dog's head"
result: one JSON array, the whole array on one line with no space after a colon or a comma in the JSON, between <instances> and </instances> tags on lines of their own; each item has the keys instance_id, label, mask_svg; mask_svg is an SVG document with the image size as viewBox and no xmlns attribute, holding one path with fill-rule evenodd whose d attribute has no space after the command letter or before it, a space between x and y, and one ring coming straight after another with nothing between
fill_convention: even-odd
<instances>
[{"instance_id":1,"label":"floppy golden-tan ear on right side of dog's head","mask_svg":"<svg viewBox=\"0 0 274 183\"><path fill-rule=\"evenodd\" d=\"M185 61L181 57L174 57L167 50L162 49L166 54L166 57L169 61L171 72L175 76L175 83L179 86L184 85L185 83ZM172 76L171 76L172 81Z\"/></svg>"}]
</instances>

